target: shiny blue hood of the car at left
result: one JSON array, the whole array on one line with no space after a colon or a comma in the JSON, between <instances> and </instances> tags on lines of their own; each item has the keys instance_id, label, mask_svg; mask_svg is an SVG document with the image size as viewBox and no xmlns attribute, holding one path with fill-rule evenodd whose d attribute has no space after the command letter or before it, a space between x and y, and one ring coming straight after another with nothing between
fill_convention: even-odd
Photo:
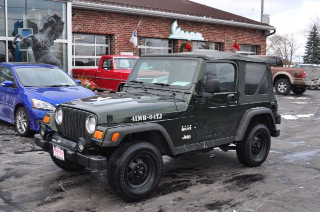
<instances>
[{"instance_id":1,"label":"shiny blue hood of the car at left","mask_svg":"<svg viewBox=\"0 0 320 212\"><path fill-rule=\"evenodd\" d=\"M28 93L28 95L33 96L33 98L48 102L55 107L57 104L61 104L63 102L96 95L91 90L82 86L25 87L24 91Z\"/></svg>"}]
</instances>

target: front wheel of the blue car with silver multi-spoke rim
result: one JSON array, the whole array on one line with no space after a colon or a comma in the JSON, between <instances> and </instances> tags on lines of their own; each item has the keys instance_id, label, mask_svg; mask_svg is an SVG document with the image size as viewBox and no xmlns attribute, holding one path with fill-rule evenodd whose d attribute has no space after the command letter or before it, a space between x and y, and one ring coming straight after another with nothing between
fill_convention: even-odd
<instances>
[{"instance_id":1,"label":"front wheel of the blue car with silver multi-spoke rim","mask_svg":"<svg viewBox=\"0 0 320 212\"><path fill-rule=\"evenodd\" d=\"M32 134L30 131L29 117L24 107L19 107L15 113L15 128L18 134L22 137L27 137Z\"/></svg>"}]
</instances>

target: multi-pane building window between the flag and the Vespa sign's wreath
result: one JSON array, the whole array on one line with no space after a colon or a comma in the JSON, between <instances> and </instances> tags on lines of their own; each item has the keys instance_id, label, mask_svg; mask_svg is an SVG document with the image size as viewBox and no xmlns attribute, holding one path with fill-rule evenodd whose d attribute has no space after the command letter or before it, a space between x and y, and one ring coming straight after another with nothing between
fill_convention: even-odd
<instances>
[{"instance_id":1,"label":"multi-pane building window between the flag and the Vespa sign's wreath","mask_svg":"<svg viewBox=\"0 0 320 212\"><path fill-rule=\"evenodd\" d=\"M138 38L138 56L164 53L172 53L172 40Z\"/></svg>"}]
</instances>

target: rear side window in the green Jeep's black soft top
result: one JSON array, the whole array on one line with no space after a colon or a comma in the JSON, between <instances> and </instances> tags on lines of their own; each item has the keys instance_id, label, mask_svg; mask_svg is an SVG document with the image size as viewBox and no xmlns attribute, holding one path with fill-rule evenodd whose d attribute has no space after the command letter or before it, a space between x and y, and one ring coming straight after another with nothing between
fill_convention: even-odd
<instances>
[{"instance_id":1,"label":"rear side window in the green Jeep's black soft top","mask_svg":"<svg viewBox=\"0 0 320 212\"><path fill-rule=\"evenodd\" d=\"M248 63L245 66L245 95L267 94L269 91L268 78L266 76L266 67L263 64Z\"/></svg>"}]
</instances>

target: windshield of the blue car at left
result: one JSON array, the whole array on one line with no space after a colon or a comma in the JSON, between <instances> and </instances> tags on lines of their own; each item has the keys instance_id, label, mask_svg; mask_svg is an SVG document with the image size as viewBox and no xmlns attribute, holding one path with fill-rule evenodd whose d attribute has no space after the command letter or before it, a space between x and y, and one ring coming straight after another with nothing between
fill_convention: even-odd
<instances>
[{"instance_id":1,"label":"windshield of the blue car at left","mask_svg":"<svg viewBox=\"0 0 320 212\"><path fill-rule=\"evenodd\" d=\"M25 87L76 86L73 79L59 68L14 68L20 83Z\"/></svg>"}]
</instances>

